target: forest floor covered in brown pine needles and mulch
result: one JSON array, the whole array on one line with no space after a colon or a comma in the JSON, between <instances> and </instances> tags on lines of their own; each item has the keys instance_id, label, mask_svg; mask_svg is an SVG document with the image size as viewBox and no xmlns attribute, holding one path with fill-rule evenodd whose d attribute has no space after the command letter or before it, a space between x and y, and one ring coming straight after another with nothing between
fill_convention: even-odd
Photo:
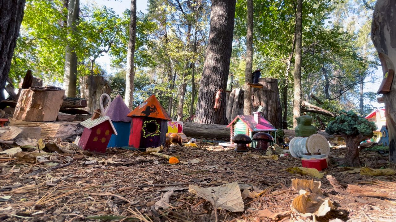
<instances>
[{"instance_id":1,"label":"forest floor covered in brown pine needles and mulch","mask_svg":"<svg viewBox=\"0 0 396 222\"><path fill-rule=\"evenodd\" d=\"M237 153L216 145L200 141L195 148L162 151L189 162L175 165L159 156L122 149L109 149L107 156L89 156L80 151L50 153L42 163L0 155L0 221L215 221L215 213L219 221L312 220L291 212L290 208L297 196L291 179L312 177L281 171L301 166L301 160L291 156L270 160L261 158L263 154ZM343 156L343 150L332 149L330 162ZM394 169L387 158L387 154L377 151L361 153L362 162L375 169ZM330 164L324 172L339 182L386 191L389 196L346 196L335 192L326 177L314 178L322 182L325 196L337 206L337 210L316 220L396 221L396 177L343 173L347 170L350 168ZM228 182L267 190L258 198L244 199L241 213L215 212L208 201L188 192L190 184L213 187ZM155 210L154 203L168 190L174 190L169 208ZM280 214L268 218L262 212Z\"/></svg>"}]
</instances>

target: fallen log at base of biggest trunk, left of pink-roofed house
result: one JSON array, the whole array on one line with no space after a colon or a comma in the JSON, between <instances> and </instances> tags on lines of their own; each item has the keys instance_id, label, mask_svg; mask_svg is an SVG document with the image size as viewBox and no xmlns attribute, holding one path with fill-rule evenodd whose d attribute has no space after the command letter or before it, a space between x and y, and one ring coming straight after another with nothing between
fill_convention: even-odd
<instances>
[{"instance_id":1,"label":"fallen log at base of biggest trunk, left of pink-roofed house","mask_svg":"<svg viewBox=\"0 0 396 222\"><path fill-rule=\"evenodd\" d=\"M194 138L227 138L230 139L230 128L219 124L200 124L183 122L183 133Z\"/></svg>"}]
</instances>

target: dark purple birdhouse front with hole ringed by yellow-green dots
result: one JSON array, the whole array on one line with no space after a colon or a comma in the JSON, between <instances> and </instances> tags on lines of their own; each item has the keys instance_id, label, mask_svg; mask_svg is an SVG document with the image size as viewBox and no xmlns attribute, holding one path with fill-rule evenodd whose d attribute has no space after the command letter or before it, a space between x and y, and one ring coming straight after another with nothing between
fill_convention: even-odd
<instances>
[{"instance_id":1,"label":"dark purple birdhouse front with hole ringed by yellow-green dots","mask_svg":"<svg viewBox=\"0 0 396 222\"><path fill-rule=\"evenodd\" d=\"M161 123L160 119L147 118L143 120L140 148L159 147L161 145Z\"/></svg>"}]
</instances>

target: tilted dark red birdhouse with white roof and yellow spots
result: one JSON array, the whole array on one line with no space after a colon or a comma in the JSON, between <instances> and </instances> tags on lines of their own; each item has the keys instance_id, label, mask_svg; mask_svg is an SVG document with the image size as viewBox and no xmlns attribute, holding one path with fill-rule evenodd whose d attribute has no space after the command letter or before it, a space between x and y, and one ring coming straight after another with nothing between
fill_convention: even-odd
<instances>
[{"instance_id":1,"label":"tilted dark red birdhouse with white roof and yellow spots","mask_svg":"<svg viewBox=\"0 0 396 222\"><path fill-rule=\"evenodd\" d=\"M95 115L92 118L95 118ZM117 135L117 131L108 116L87 119L80 124L85 127L80 141L78 141L78 146L83 150L105 153L111 135Z\"/></svg>"}]
</instances>

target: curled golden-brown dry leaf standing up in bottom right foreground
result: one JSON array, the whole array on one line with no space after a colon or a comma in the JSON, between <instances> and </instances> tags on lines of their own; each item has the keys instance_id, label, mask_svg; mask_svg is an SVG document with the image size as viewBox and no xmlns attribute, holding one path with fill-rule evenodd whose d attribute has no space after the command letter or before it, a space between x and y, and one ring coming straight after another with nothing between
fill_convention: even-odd
<instances>
[{"instance_id":1,"label":"curled golden-brown dry leaf standing up in bottom right foreground","mask_svg":"<svg viewBox=\"0 0 396 222\"><path fill-rule=\"evenodd\" d=\"M291 182L300 194L293 199L291 207L301 216L324 216L335 208L332 201L324 198L320 182L305 179L293 179Z\"/></svg>"}]
</instances>

